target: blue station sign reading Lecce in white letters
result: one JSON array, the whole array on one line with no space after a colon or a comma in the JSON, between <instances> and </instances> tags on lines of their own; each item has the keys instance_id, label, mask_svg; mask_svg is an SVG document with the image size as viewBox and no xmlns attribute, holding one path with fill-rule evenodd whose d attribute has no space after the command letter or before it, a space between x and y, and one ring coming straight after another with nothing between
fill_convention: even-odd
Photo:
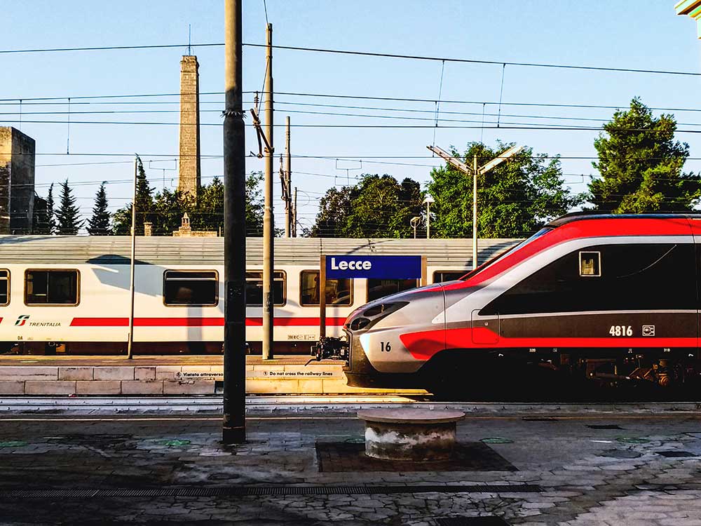
<instances>
[{"instance_id":1,"label":"blue station sign reading Lecce in white letters","mask_svg":"<svg viewBox=\"0 0 701 526\"><path fill-rule=\"evenodd\" d=\"M421 256L327 255L326 277L420 279Z\"/></svg>"}]
</instances>

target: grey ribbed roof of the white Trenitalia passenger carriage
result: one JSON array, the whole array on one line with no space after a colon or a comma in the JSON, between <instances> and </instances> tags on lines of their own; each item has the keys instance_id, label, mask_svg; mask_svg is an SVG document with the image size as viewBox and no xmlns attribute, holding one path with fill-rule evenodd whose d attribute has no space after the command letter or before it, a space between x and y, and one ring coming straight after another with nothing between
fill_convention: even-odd
<instances>
[{"instance_id":1,"label":"grey ribbed roof of the white Trenitalia passenger carriage","mask_svg":"<svg viewBox=\"0 0 701 526\"><path fill-rule=\"evenodd\" d=\"M0 236L0 264L128 264L129 236ZM481 260L512 248L521 239L479 239ZM469 270L471 239L275 238L275 265L318 267L320 255L426 255L432 267ZM136 239L137 264L224 264L224 238L144 237ZM262 238L247 238L246 266L263 264Z\"/></svg>"}]
</instances>

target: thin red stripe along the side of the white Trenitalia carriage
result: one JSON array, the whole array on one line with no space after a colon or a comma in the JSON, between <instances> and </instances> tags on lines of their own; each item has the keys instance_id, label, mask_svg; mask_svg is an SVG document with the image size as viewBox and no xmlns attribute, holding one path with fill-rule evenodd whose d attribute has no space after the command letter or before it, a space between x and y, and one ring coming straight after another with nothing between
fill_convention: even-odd
<instances>
[{"instance_id":1,"label":"thin red stripe along the side of the white Trenitalia carriage","mask_svg":"<svg viewBox=\"0 0 701 526\"><path fill-rule=\"evenodd\" d=\"M346 318L326 318L341 326ZM73 318L71 327L128 327L129 318ZM246 318L248 327L261 327L263 318ZM274 318L275 327L318 327L319 318ZM134 318L135 327L224 327L224 318Z\"/></svg>"}]
</instances>

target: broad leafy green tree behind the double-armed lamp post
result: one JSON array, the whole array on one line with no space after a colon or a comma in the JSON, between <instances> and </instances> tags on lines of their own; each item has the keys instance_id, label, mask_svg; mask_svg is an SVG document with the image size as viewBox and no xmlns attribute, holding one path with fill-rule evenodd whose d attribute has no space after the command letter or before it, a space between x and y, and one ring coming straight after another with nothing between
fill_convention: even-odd
<instances>
[{"instance_id":1,"label":"broad leafy green tree behind the double-armed lamp post","mask_svg":"<svg viewBox=\"0 0 701 526\"><path fill-rule=\"evenodd\" d=\"M513 144L498 142L495 149L471 142L461 156L469 166L477 155L479 166L498 157ZM472 175L452 166L431 171L428 192L435 199L431 207L432 236L472 236ZM582 196L564 189L559 159L533 154L524 148L516 156L479 177L477 184L477 233L485 238L524 237L545 222L578 205Z\"/></svg>"}]
</instances>

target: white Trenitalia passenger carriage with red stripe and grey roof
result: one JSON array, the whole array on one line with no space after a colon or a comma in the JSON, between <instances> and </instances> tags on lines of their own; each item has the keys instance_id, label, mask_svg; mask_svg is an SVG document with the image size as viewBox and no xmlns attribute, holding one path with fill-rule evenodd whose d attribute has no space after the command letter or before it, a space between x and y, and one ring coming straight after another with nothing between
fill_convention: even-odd
<instances>
[{"instance_id":1,"label":"white Trenitalia passenger carriage with red stripe and grey roof","mask_svg":"<svg viewBox=\"0 0 701 526\"><path fill-rule=\"evenodd\" d=\"M481 240L480 259L519 240ZM469 240L275 239L275 351L308 353L319 337L320 255L426 255L428 283L470 270ZM223 238L139 237L135 353L221 353ZM247 240L247 340L261 341L262 246ZM125 353L130 238L0 236L0 352ZM358 306L416 280L327 280L327 335Z\"/></svg>"}]
</instances>

